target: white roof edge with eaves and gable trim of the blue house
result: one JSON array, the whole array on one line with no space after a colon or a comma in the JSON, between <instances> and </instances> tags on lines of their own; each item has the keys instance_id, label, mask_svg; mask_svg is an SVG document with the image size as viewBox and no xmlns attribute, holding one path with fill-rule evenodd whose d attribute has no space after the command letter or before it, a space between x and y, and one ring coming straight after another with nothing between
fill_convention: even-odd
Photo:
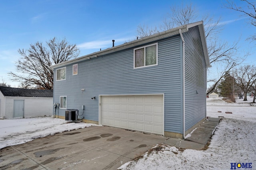
<instances>
[{"instance_id":1,"label":"white roof edge with eaves and gable trim of the blue house","mask_svg":"<svg viewBox=\"0 0 256 170\"><path fill-rule=\"evenodd\" d=\"M80 62L80 61L83 61L83 60L88 60L90 58L100 57L100 56L103 56L103 55L106 55L106 54L122 51L122 50L125 50L125 49L128 49L128 48L133 48L134 46L140 46L140 45L146 44L148 42L161 40L161 39L164 39L164 38L167 38L167 37L170 37L170 36L180 34L179 30L181 30L182 33L187 32L189 28L192 28L194 26L198 26L198 28L199 28L202 47L203 47L203 52L204 52L204 58L205 58L205 61L206 61L206 66L210 67L211 65L210 65L209 55L208 55L208 50L207 50L207 45L206 45L204 25L203 25L202 21L199 21L199 22L194 22L194 23L191 23L191 24L179 26L177 28L173 28L173 29L170 29L170 30L167 30L167 31L164 31L164 32L160 32L158 34L147 36L147 37L144 37L144 38L141 38L141 39L138 39L138 40L134 40L134 41L131 41L131 42L126 42L122 45L114 46L112 48L107 48L106 50L102 50L102 51L99 51L99 52L94 52L94 53L88 54L86 56L81 56L81 57L78 57L78 58L74 58L72 60L61 62L61 63L55 64L53 66L50 66L50 68L54 69L54 68L66 66L67 64L73 64L73 63Z\"/></svg>"}]
</instances>

